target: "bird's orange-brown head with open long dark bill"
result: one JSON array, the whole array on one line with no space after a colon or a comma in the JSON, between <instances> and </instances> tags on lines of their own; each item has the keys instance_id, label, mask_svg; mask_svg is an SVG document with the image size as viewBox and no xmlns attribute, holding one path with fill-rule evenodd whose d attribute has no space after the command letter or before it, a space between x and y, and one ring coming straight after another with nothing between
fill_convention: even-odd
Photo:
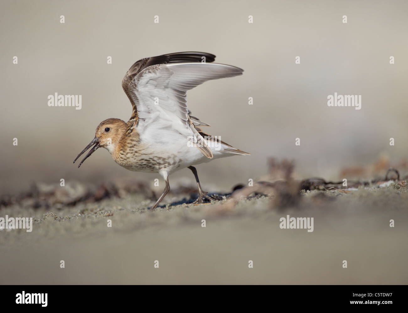
<instances>
[{"instance_id":1,"label":"bird's orange-brown head with open long dark bill","mask_svg":"<svg viewBox=\"0 0 408 313\"><path fill-rule=\"evenodd\" d=\"M118 147L121 138L126 133L126 129L127 124L118 118L108 118L107 120L102 121L98 127L96 127L95 138L93 138L85 149L78 154L74 160L74 163L85 151L91 147L92 149L89 150L88 154L82 159L78 167L80 167L81 164L100 147L105 148L112 153L116 147Z\"/></svg>"}]
</instances>

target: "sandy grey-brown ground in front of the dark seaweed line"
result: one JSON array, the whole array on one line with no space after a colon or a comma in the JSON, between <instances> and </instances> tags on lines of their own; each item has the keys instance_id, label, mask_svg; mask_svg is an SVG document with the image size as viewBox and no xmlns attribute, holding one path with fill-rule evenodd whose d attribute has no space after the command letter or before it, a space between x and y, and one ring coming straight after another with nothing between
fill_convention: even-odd
<instances>
[{"instance_id":1,"label":"sandy grey-brown ground in front of the dark seaweed line","mask_svg":"<svg viewBox=\"0 0 408 313\"><path fill-rule=\"evenodd\" d=\"M184 197L165 200L185 202ZM52 212L3 207L2 217L36 220L31 233L0 232L0 282L408 283L407 187L302 192L299 206L286 209L274 207L271 200L273 196L258 195L240 200L232 209L224 209L228 200L223 200L149 211L153 201L133 194ZM287 214L313 217L314 231L280 229L279 219ZM156 260L159 268L154 267Z\"/></svg>"}]
</instances>

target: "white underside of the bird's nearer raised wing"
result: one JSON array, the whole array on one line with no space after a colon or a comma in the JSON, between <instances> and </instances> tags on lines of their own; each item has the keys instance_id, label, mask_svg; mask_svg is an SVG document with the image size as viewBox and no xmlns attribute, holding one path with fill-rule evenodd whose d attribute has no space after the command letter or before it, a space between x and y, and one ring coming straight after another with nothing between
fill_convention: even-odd
<instances>
[{"instance_id":1,"label":"white underside of the bird's nearer raised wing","mask_svg":"<svg viewBox=\"0 0 408 313\"><path fill-rule=\"evenodd\" d=\"M144 133L171 129L191 141L205 142L200 134L201 130L196 126L208 124L190 115L186 92L207 80L241 75L242 72L242 69L231 65L200 62L169 62L145 66L141 71L138 70L126 89L134 107L128 122L128 125L132 125L129 129L134 124L138 128L140 126L140 131ZM198 148L206 157L213 157L208 147Z\"/></svg>"}]
</instances>

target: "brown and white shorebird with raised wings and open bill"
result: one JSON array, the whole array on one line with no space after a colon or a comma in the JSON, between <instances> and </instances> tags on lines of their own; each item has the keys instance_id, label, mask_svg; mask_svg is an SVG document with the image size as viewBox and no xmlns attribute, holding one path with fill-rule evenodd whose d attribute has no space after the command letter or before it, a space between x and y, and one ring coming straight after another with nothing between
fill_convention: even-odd
<instances>
[{"instance_id":1,"label":"brown and white shorebird with raised wings and open bill","mask_svg":"<svg viewBox=\"0 0 408 313\"><path fill-rule=\"evenodd\" d=\"M199 196L193 204L210 200L200 185L193 165L213 159L250 153L234 148L219 137L204 133L209 124L191 115L186 92L219 78L242 75L243 69L213 63L215 55L205 52L177 52L143 58L135 62L122 80L122 88L132 104L128 122L118 118L102 121L95 138L78 154L86 151L81 164L99 148L111 153L113 160L130 171L159 173L166 184L155 209L170 190L169 175L190 169Z\"/></svg>"}]
</instances>

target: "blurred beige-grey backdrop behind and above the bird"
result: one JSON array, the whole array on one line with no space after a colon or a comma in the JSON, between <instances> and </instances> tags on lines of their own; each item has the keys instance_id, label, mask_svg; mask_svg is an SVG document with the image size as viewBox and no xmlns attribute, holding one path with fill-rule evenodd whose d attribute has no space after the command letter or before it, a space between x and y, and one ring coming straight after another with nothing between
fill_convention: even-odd
<instances>
[{"instance_id":1,"label":"blurred beige-grey backdrop behind and above the bird","mask_svg":"<svg viewBox=\"0 0 408 313\"><path fill-rule=\"evenodd\" d=\"M245 70L188 92L193 115L212 125L205 131L252 154L198 166L202 182L255 180L269 156L294 159L302 177L326 179L380 155L400 162L408 143L407 9L405 1L2 1L0 193L61 178L160 178L127 171L104 150L80 169L72 162L102 120L129 119L121 81L133 62L178 51L214 53ZM55 92L82 95L82 109L49 107ZM335 92L361 95L361 110L328 107ZM187 169L172 176L194 182Z\"/></svg>"}]
</instances>

